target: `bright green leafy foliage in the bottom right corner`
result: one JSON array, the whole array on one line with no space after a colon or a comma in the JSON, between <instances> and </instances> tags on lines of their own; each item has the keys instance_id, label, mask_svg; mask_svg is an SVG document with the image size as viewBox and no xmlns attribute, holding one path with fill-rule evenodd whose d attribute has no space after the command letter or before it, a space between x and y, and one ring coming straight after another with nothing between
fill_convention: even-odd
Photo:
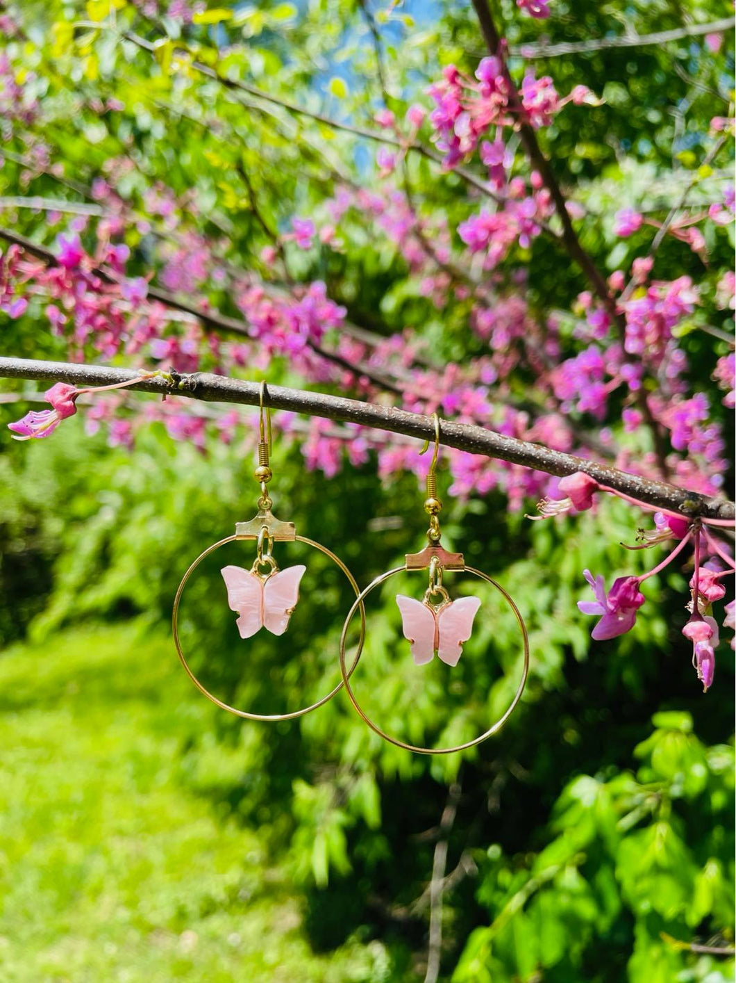
<instances>
[{"instance_id":1,"label":"bright green leafy foliage in the bottom right corner","mask_svg":"<svg viewBox=\"0 0 736 983\"><path fill-rule=\"evenodd\" d=\"M704 746L689 714L659 713L653 723L634 750L636 774L567 785L533 859L487 851L478 895L492 921L472 934L453 983L528 979L540 967L569 983L624 971L632 983L733 977L732 961L687 946L696 927L733 940L733 747ZM616 950L631 925L624 970Z\"/></svg>"}]
</instances>

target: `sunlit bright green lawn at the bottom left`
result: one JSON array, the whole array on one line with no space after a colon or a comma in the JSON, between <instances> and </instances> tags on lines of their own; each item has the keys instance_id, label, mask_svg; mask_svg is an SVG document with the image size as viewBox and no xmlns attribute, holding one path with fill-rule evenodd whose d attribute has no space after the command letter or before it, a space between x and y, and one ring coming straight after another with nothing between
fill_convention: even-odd
<instances>
[{"instance_id":1,"label":"sunlit bright green lawn at the bottom left","mask_svg":"<svg viewBox=\"0 0 736 983\"><path fill-rule=\"evenodd\" d=\"M3 983L388 978L377 943L313 954L257 836L182 781L214 713L140 625L0 657Z\"/></svg>"}]
</instances>

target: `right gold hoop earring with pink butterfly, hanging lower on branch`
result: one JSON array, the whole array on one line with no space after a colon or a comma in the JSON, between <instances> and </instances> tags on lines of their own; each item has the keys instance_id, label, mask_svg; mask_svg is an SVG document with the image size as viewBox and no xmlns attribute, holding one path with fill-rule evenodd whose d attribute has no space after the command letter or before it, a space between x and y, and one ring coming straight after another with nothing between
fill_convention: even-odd
<instances>
[{"instance_id":1,"label":"right gold hoop earring with pink butterfly, hanging lower on branch","mask_svg":"<svg viewBox=\"0 0 736 983\"><path fill-rule=\"evenodd\" d=\"M403 565L396 566L393 570L387 570L386 573L380 574L363 591L361 591L361 593L355 599L355 603L347 612L345 622L342 626L342 636L340 641L340 668L342 673L342 683L345 687L345 692L350 698L350 702L363 721L367 723L372 730L375 730L377 734L379 734L385 740L390 741L392 744L395 744L396 747L402 747L406 751L414 751L418 754L451 754L454 751L464 751L466 748L474 747L476 744L480 744L482 741L495 734L503 723L505 723L511 716L516 704L521 699L521 694L524 691L527 674L529 672L529 637L527 634L526 625L524 624L524 619L522 618L518 607L516 607L509 594L500 586L500 584L498 584L492 577L489 577L488 574L484 573L482 570L476 570L472 566L467 566L463 559L462 553L447 552L447 549L444 549L441 545L442 533L440 529L440 519L438 516L443 506L442 502L437 496L436 476L437 460L440 451L440 418L436 413L434 413L432 415L432 419L435 425L435 449L432 456L432 463L430 465L429 473L427 475L427 496L424 501L424 509L430 516L429 529L427 530L427 546L420 550L420 552L407 553ZM428 447L429 441L427 441L421 453L424 453ZM444 584L444 575L446 572L469 573L475 577L479 577L481 580L486 581L486 583L491 584L497 591L499 591L501 597L507 602L513 611L521 631L524 653L521 679L513 699L506 708L506 711L498 721L492 723L487 730L479 734L473 740L468 740L463 744L457 744L453 747L421 747L414 744L408 744L405 741L386 733L381 729L381 727L378 726L377 723L374 723L368 717L366 712L360 706L360 703L355 695L355 691L350 683L350 675L352 674L355 665L353 663L348 670L345 660L345 639L347 637L347 630L350 626L350 622L352 621L355 611L359 607L362 610L362 605L371 591L379 587L381 584L384 584L395 574L406 570L429 571L429 585L424 591L420 601L416 598L409 598L401 594L397 594L395 596L396 606L401 614L403 636L409 643L410 652L415 665L426 665L427 663L430 663L435 656L437 656L441 662L445 663L449 668L452 668L453 666L457 665L460 656L462 655L462 644L467 642L472 634L473 621L479 608L481 607L481 601L479 598L474 597L463 597L457 598L456 600L451 600ZM362 616L364 619L364 612ZM363 620L361 642L364 636L364 626L365 620Z\"/></svg>"}]
</instances>

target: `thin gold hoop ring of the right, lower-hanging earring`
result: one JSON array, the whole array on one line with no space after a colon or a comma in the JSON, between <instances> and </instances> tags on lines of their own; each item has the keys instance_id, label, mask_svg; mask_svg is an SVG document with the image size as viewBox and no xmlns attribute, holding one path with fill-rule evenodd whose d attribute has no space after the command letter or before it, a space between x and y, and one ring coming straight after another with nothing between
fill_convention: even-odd
<instances>
[{"instance_id":1,"label":"thin gold hoop ring of the right, lower-hanging earring","mask_svg":"<svg viewBox=\"0 0 736 983\"><path fill-rule=\"evenodd\" d=\"M516 607L511 596L508 594L507 591L505 591L500 586L499 583L497 583L493 579L493 577L489 577L487 573L483 573L481 570L476 570L475 567L465 566L464 563L461 566L460 565L452 566L451 569L453 570L458 570L461 572L464 571L465 573L475 574L476 577L480 577L481 580L485 580L487 583L495 587L499 591L499 593L503 596L503 598L505 598L505 600L508 602L509 607L511 607L511 610L516 615L516 620L518 621L519 628L521 629L521 637L524 643L524 665L521 671L521 680L519 681L519 685L516 688L516 693L514 694L513 699L511 700L510 704L506 708L506 711L503 714L503 716L499 717L499 720L496 721L496 723L493 723L488 728L488 730L484 731L482 734L480 734L480 736L475 737L473 740L466 741L464 744L457 744L454 747L417 747L415 744L407 744L405 741L399 740L397 737L392 737L391 734L387 734L385 730L382 730L381 727L378 726L378 724L373 723L373 721L368 717L368 715L365 713L363 708L358 703L357 697L355 696L355 693L353 692L352 687L350 686L350 676L352 675L353 670L355 669L357 660L355 661L355 663L353 663L353 665L350 667L350 671L348 672L345 666L345 638L347 636L347 629L350 626L350 621L352 621L353 615L357 607L360 606L362 608L363 628L360 637L359 651L362 652L362 643L365 639L365 607L363 607L363 602L374 588L378 587L380 584L383 584L390 577L393 577L394 574L402 573L407 569L412 569L412 567L409 567L407 564L404 564L403 566L396 566L394 567L393 570L387 570L386 573L382 573L380 576L376 577L375 580L373 580L363 591L360 592L358 597L355 599L353 606L347 612L345 623L342 625L342 635L340 639L340 671L342 674L342 684L345 687L345 692L350 698L350 703L353 705L358 715L362 718L363 722L367 723L368 726L372 730L375 730L375 732L380 737L383 737L384 740L388 740L391 744L395 744L396 747L401 747L405 751L413 751L416 754L452 754L455 751L465 751L467 750L467 748L475 747L476 744L482 743L482 741L487 740L489 737L497 733L499 729L503 726L503 724L511 716L511 714L513 713L516 707L516 704L521 699L521 694L524 692L524 686L526 685L526 678L527 675L529 674L529 635L526 630L526 625L524 624L524 619L521 616L521 612L519 611L519 608ZM413 567L413 569L417 569L417 567Z\"/></svg>"}]
</instances>

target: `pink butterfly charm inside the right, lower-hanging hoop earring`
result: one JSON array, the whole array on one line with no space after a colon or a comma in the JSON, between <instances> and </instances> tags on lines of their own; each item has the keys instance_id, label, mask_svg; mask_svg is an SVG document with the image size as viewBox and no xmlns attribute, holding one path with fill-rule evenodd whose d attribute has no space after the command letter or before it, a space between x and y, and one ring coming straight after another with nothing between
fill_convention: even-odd
<instances>
[{"instance_id":1,"label":"pink butterfly charm inside the right, lower-hanging hoop earring","mask_svg":"<svg viewBox=\"0 0 736 983\"><path fill-rule=\"evenodd\" d=\"M457 665L462 655L462 643L472 634L480 600L458 598L437 609L397 594L396 604L401 612L403 635L411 642L416 665L432 662L435 653L447 665Z\"/></svg>"}]
</instances>

